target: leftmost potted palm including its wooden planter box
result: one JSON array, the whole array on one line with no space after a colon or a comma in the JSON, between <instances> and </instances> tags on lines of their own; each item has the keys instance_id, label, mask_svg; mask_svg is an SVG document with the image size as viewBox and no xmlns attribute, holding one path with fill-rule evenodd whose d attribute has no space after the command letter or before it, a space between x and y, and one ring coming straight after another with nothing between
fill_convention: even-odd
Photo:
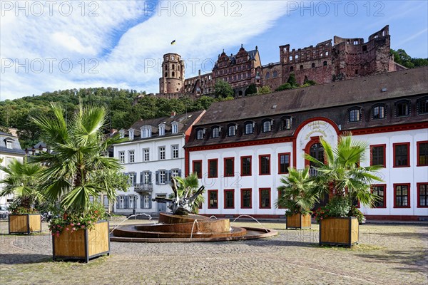
<instances>
[{"instance_id":1,"label":"leftmost potted palm including its wooden planter box","mask_svg":"<svg viewBox=\"0 0 428 285\"><path fill-rule=\"evenodd\" d=\"M41 232L41 214L34 208L43 200L35 188L40 165L12 160L0 169L6 172L0 181L4 184L0 196L14 195L14 202L9 206L9 234Z\"/></svg>"}]
</instances>

